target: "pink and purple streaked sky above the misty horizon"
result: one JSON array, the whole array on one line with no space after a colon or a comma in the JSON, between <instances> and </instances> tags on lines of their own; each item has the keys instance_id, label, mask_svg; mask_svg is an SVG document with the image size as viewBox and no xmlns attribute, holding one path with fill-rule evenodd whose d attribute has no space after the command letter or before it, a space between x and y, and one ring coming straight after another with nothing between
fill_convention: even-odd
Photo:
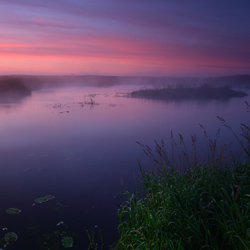
<instances>
[{"instance_id":1,"label":"pink and purple streaked sky above the misty horizon","mask_svg":"<svg viewBox=\"0 0 250 250\"><path fill-rule=\"evenodd\" d=\"M250 74L250 1L0 0L0 74Z\"/></svg>"}]
</instances>

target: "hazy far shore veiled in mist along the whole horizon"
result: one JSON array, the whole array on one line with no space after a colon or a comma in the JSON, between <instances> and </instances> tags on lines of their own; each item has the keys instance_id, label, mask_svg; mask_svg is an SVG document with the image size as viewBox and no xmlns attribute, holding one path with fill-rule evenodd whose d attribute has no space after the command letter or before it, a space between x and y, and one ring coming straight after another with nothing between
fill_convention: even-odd
<instances>
[{"instance_id":1,"label":"hazy far shore veiled in mist along the whole horizon","mask_svg":"<svg viewBox=\"0 0 250 250\"><path fill-rule=\"evenodd\" d=\"M156 76L108 76L108 75L15 75L14 77L31 90L63 86L110 87L120 84L161 86L185 85L199 86L206 82L214 86L250 87L250 75L233 75L222 77L156 77Z\"/></svg>"}]
</instances>

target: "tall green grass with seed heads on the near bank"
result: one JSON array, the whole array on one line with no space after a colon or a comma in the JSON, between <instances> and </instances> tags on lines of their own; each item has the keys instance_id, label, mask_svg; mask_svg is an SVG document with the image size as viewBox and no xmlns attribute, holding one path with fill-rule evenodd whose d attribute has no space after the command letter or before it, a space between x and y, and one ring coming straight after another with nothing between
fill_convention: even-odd
<instances>
[{"instance_id":1,"label":"tall green grass with seed heads on the near bank","mask_svg":"<svg viewBox=\"0 0 250 250\"><path fill-rule=\"evenodd\" d=\"M223 118L218 119L233 132ZM250 128L244 124L241 128L245 144L234 135L248 157ZM217 153L216 139L210 139L205 129L204 135L209 160L203 162L196 155L195 135L192 157L179 135L177 160L173 137L170 155L163 141L155 141L155 150L139 143L155 168L147 173L139 164L142 191L125 193L118 210L120 239L114 250L250 249L250 161L225 161Z\"/></svg>"}]
</instances>

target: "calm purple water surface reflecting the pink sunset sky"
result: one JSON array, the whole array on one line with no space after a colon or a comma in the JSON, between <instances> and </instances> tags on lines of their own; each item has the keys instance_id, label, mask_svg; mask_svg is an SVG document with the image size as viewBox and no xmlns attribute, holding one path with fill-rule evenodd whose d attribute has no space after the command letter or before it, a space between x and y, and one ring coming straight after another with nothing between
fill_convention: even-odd
<instances>
[{"instance_id":1,"label":"calm purple water surface reflecting the pink sunset sky","mask_svg":"<svg viewBox=\"0 0 250 250\"><path fill-rule=\"evenodd\" d=\"M221 143L238 149L216 116L239 133L240 123L249 120L248 97L166 102L123 95L138 88L47 89L0 105L0 248L64 249L61 239L69 236L71 249L88 249L87 233L94 232L100 244L101 231L103 249L109 249L118 239L119 193L135 191L137 159L152 167L136 141L154 147L154 139L167 141L172 130L191 152L190 135L196 133L199 154L206 155L202 124L212 138L221 127ZM44 195L55 198L34 202ZM11 207L21 213L7 214ZM18 240L5 245L8 232Z\"/></svg>"}]
</instances>

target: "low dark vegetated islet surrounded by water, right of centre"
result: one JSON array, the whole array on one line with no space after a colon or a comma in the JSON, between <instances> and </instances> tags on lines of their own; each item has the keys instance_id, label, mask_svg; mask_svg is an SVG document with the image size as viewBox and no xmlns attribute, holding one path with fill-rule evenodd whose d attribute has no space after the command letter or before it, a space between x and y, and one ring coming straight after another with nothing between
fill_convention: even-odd
<instances>
[{"instance_id":1,"label":"low dark vegetated islet surrounded by water, right of centre","mask_svg":"<svg viewBox=\"0 0 250 250\"><path fill-rule=\"evenodd\" d=\"M244 97L247 93L233 90L229 86L214 87L203 84L198 87L168 86L164 88L141 89L130 93L132 98L159 99L166 101L182 100L228 100L232 97Z\"/></svg>"}]
</instances>

